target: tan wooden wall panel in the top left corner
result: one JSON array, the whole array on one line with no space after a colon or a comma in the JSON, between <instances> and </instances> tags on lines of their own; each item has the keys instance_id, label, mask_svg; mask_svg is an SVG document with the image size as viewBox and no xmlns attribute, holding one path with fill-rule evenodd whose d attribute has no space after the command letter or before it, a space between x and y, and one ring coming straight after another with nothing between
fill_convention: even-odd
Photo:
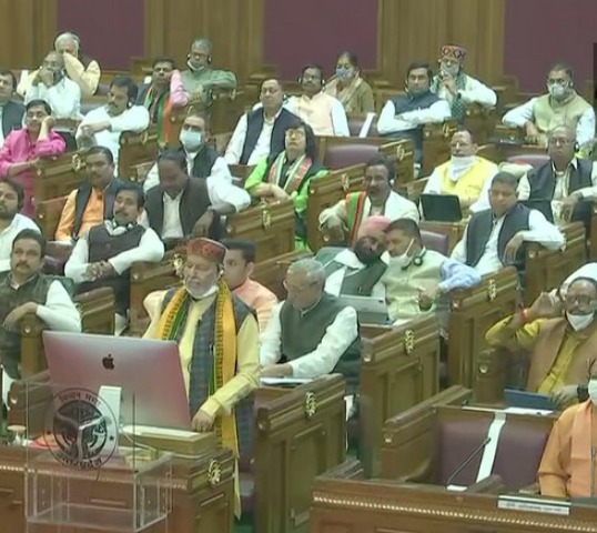
<instances>
[{"instance_id":1,"label":"tan wooden wall panel in the top left corner","mask_svg":"<svg viewBox=\"0 0 597 533\"><path fill-rule=\"evenodd\" d=\"M53 48L55 0L0 0L0 66L32 69Z\"/></svg>"}]
</instances>

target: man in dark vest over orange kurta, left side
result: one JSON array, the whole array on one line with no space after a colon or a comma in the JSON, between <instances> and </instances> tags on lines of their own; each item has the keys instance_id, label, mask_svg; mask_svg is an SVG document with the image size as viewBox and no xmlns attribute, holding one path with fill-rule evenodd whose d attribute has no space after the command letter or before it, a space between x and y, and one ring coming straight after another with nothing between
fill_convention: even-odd
<instances>
[{"instance_id":1,"label":"man in dark vest over orange kurta, left side","mask_svg":"<svg viewBox=\"0 0 597 533\"><path fill-rule=\"evenodd\" d=\"M67 198L55 240L77 242L94 225L113 214L114 197L123 182L114 175L114 159L105 147L91 147L85 155L88 180Z\"/></svg>"}]
</instances>

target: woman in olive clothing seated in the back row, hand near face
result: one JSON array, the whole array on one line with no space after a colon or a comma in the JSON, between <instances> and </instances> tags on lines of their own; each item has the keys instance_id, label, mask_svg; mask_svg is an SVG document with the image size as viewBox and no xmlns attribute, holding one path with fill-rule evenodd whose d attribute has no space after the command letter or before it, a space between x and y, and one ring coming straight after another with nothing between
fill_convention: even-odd
<instances>
[{"instance_id":1,"label":"woman in olive clothing seated in the back row, hand near face","mask_svg":"<svg viewBox=\"0 0 597 533\"><path fill-rule=\"evenodd\" d=\"M361 78L358 59L352 52L338 56L336 73L326 83L324 92L338 99L346 113L373 113L375 110L373 90Z\"/></svg>"}]
</instances>

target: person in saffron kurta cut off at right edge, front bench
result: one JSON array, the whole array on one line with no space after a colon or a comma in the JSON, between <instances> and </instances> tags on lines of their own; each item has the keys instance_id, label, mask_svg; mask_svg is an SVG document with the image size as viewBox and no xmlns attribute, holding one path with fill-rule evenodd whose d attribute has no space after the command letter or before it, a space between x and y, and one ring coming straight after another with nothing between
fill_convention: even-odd
<instances>
[{"instance_id":1,"label":"person in saffron kurta cut off at right edge, front bench","mask_svg":"<svg viewBox=\"0 0 597 533\"><path fill-rule=\"evenodd\" d=\"M568 408L554 424L539 465L542 496L591 497L597 484L597 371L589 400Z\"/></svg>"}]
</instances>

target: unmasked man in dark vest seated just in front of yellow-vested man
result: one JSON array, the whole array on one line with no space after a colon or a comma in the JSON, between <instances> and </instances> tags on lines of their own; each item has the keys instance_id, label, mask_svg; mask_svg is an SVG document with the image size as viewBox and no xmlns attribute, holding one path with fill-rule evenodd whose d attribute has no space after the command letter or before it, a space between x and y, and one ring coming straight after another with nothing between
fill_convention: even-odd
<instances>
[{"instance_id":1,"label":"unmasked man in dark vest seated just in front of yellow-vested man","mask_svg":"<svg viewBox=\"0 0 597 533\"><path fill-rule=\"evenodd\" d=\"M470 217L463 239L452 258L473 266L480 275L492 274L506 265L524 272L526 242L538 242L558 250L566 240L540 211L517 203L516 178L498 172L489 189L490 209Z\"/></svg>"}]
</instances>

